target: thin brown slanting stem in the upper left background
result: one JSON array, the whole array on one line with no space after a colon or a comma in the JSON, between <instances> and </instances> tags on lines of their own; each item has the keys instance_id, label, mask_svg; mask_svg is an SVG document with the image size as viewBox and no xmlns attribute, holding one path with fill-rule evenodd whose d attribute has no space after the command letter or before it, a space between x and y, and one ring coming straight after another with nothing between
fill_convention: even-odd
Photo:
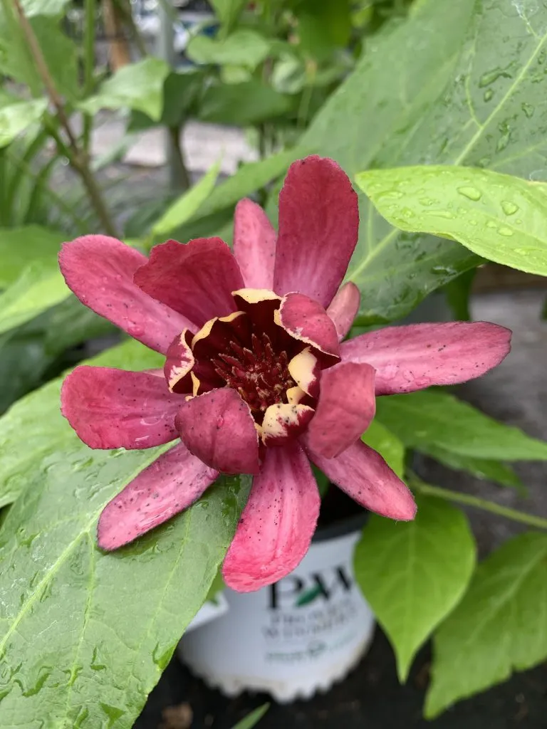
<instances>
[{"instance_id":1,"label":"thin brown slanting stem in the upper left background","mask_svg":"<svg viewBox=\"0 0 547 729\"><path fill-rule=\"evenodd\" d=\"M61 96L59 95L58 90L55 87L55 83L53 82L53 78L51 77L50 70L47 68L44 54L42 53L42 49L40 48L38 40L34 35L34 30L32 29L31 24L28 22L28 18L25 15L20 0L13 0L13 2L18 14L20 28L23 31L23 35L25 36L26 42L28 44L28 50L31 52L34 63L36 63L36 71L38 71L39 76L42 79L44 86L46 87L47 95L49 96L51 103L53 104L53 106L55 106L59 123L66 133L66 138L69 141L68 147L65 147L65 149L68 151L69 161L74 170L77 171L79 176L82 178L82 182L83 184L85 184L85 187L88 190L88 195L90 197L91 203L93 204L98 218L101 221L101 225L103 225L104 227L105 233L108 233L109 235L118 238L119 235L117 235L115 224L110 217L106 205L104 204L101 190L99 190L96 179L93 177L93 174L91 173L88 166L87 155L85 155L85 152L83 152L83 150L79 149L78 147L76 137L74 136L69 122L69 117L67 117L65 108L63 106L63 100L61 99Z\"/></svg>"}]
</instances>

